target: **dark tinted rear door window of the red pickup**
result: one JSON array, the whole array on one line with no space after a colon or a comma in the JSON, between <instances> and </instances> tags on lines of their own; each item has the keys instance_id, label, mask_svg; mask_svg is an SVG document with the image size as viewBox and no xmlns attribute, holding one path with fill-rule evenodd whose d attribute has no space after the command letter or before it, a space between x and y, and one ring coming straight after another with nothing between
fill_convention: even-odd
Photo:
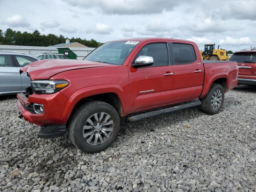
<instances>
[{"instance_id":1,"label":"dark tinted rear door window of the red pickup","mask_svg":"<svg viewBox=\"0 0 256 192\"><path fill-rule=\"evenodd\" d=\"M172 44L172 54L176 65L190 64L196 61L194 47L189 44Z\"/></svg>"}]
</instances>

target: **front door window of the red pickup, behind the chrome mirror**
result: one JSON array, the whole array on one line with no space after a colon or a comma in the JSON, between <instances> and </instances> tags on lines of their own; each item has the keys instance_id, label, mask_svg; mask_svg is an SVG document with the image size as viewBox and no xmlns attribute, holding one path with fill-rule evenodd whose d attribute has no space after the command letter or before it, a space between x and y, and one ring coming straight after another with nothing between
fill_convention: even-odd
<instances>
[{"instance_id":1,"label":"front door window of the red pickup, behind the chrome mirror","mask_svg":"<svg viewBox=\"0 0 256 192\"><path fill-rule=\"evenodd\" d=\"M137 57L142 55L153 57L154 64L151 67L168 65L168 51L165 43L153 43L144 46Z\"/></svg>"}]
</instances>

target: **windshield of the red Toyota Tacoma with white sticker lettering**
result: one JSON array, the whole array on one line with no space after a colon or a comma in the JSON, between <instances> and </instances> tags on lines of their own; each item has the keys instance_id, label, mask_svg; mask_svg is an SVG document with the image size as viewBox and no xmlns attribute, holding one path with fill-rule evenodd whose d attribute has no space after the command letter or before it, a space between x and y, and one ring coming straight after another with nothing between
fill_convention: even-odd
<instances>
[{"instance_id":1,"label":"windshield of the red Toyota Tacoma with white sticker lettering","mask_svg":"<svg viewBox=\"0 0 256 192\"><path fill-rule=\"evenodd\" d=\"M84 60L122 65L138 41L107 42L96 48Z\"/></svg>"}]
</instances>

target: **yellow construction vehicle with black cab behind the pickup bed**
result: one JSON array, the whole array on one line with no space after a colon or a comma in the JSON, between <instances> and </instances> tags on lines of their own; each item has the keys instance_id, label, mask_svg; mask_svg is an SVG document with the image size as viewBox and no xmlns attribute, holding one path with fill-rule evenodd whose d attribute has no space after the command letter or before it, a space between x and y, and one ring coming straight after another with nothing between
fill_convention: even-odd
<instances>
[{"instance_id":1,"label":"yellow construction vehicle with black cab behind the pickup bed","mask_svg":"<svg viewBox=\"0 0 256 192\"><path fill-rule=\"evenodd\" d=\"M219 45L220 46L220 45ZM228 60L228 52L224 49L215 49L215 44L205 44L204 51L200 50L202 60Z\"/></svg>"}]
</instances>

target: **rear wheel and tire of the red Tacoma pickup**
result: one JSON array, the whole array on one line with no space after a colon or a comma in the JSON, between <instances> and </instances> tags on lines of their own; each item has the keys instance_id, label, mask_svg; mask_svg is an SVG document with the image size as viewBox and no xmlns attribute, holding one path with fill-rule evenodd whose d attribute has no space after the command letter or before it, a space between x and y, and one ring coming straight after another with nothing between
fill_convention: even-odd
<instances>
[{"instance_id":1,"label":"rear wheel and tire of the red Tacoma pickup","mask_svg":"<svg viewBox=\"0 0 256 192\"><path fill-rule=\"evenodd\" d=\"M220 98L220 95L221 95L221 98ZM218 113L224 103L223 87L220 84L215 84L215 83L212 84L212 86L210 87L210 90L208 91L208 94L200 100L202 102L201 104L202 112L205 112L210 115L214 115Z\"/></svg>"}]
</instances>

